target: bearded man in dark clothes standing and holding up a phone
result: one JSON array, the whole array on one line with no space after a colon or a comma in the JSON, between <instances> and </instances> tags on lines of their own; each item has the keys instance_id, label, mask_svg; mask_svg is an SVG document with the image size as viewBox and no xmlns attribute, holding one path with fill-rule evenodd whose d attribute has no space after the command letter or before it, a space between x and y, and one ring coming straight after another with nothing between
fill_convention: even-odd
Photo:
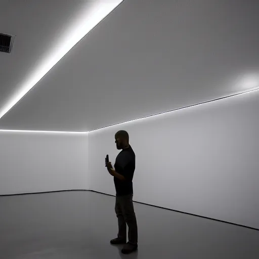
<instances>
[{"instance_id":1,"label":"bearded man in dark clothes standing and holding up a phone","mask_svg":"<svg viewBox=\"0 0 259 259\"><path fill-rule=\"evenodd\" d=\"M118 237L111 240L111 244L125 244L122 253L131 253L138 248L138 227L133 206L133 175L135 171L135 153L129 144L126 131L115 134L118 150L122 150L112 168L111 162L106 167L114 177L116 189L115 212L118 218ZM126 224L128 226L128 242L126 243Z\"/></svg>"}]
</instances>

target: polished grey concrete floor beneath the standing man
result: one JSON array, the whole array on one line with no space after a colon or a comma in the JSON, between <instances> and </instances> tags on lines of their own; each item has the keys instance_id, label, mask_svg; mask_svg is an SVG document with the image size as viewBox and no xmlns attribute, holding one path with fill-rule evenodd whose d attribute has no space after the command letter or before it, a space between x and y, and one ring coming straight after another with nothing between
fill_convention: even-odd
<instances>
[{"instance_id":1,"label":"polished grey concrete floor beneath the standing man","mask_svg":"<svg viewBox=\"0 0 259 259\"><path fill-rule=\"evenodd\" d=\"M139 203L139 249L124 255L109 243L114 203L93 192L0 197L0 258L259 258L259 231Z\"/></svg>"}]
</instances>

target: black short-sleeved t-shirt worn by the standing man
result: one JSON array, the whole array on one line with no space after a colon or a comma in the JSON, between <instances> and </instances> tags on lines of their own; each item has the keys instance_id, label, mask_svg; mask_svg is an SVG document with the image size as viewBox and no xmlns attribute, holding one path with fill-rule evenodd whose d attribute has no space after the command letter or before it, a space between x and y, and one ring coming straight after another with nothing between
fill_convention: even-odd
<instances>
[{"instance_id":1,"label":"black short-sleeved t-shirt worn by the standing man","mask_svg":"<svg viewBox=\"0 0 259 259\"><path fill-rule=\"evenodd\" d=\"M133 175L135 171L135 153L132 147L123 149L116 157L114 168L115 171L124 176L126 180L119 180L114 177L116 196L133 194Z\"/></svg>"}]
</instances>

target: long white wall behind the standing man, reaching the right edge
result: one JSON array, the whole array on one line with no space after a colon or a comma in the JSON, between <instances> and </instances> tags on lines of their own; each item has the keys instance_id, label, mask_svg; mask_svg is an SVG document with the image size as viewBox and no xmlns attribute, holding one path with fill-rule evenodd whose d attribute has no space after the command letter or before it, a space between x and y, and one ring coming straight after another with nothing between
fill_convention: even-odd
<instances>
[{"instance_id":1,"label":"long white wall behind the standing man, reaching the right edge","mask_svg":"<svg viewBox=\"0 0 259 259\"><path fill-rule=\"evenodd\" d=\"M134 200L259 228L259 91L89 133L90 188L115 194L104 167L126 130Z\"/></svg>"}]
</instances>

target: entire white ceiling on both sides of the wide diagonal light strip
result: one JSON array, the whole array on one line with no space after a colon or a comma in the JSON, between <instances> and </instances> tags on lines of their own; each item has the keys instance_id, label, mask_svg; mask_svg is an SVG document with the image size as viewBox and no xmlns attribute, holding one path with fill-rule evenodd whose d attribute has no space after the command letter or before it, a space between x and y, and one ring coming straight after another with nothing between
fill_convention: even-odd
<instances>
[{"instance_id":1,"label":"entire white ceiling on both sides of the wide diagonal light strip","mask_svg":"<svg viewBox=\"0 0 259 259\"><path fill-rule=\"evenodd\" d=\"M0 106L85 4L2 2L0 32L17 36L12 55L0 53ZM254 0L124 0L0 128L89 131L258 87L258 10Z\"/></svg>"}]
</instances>

